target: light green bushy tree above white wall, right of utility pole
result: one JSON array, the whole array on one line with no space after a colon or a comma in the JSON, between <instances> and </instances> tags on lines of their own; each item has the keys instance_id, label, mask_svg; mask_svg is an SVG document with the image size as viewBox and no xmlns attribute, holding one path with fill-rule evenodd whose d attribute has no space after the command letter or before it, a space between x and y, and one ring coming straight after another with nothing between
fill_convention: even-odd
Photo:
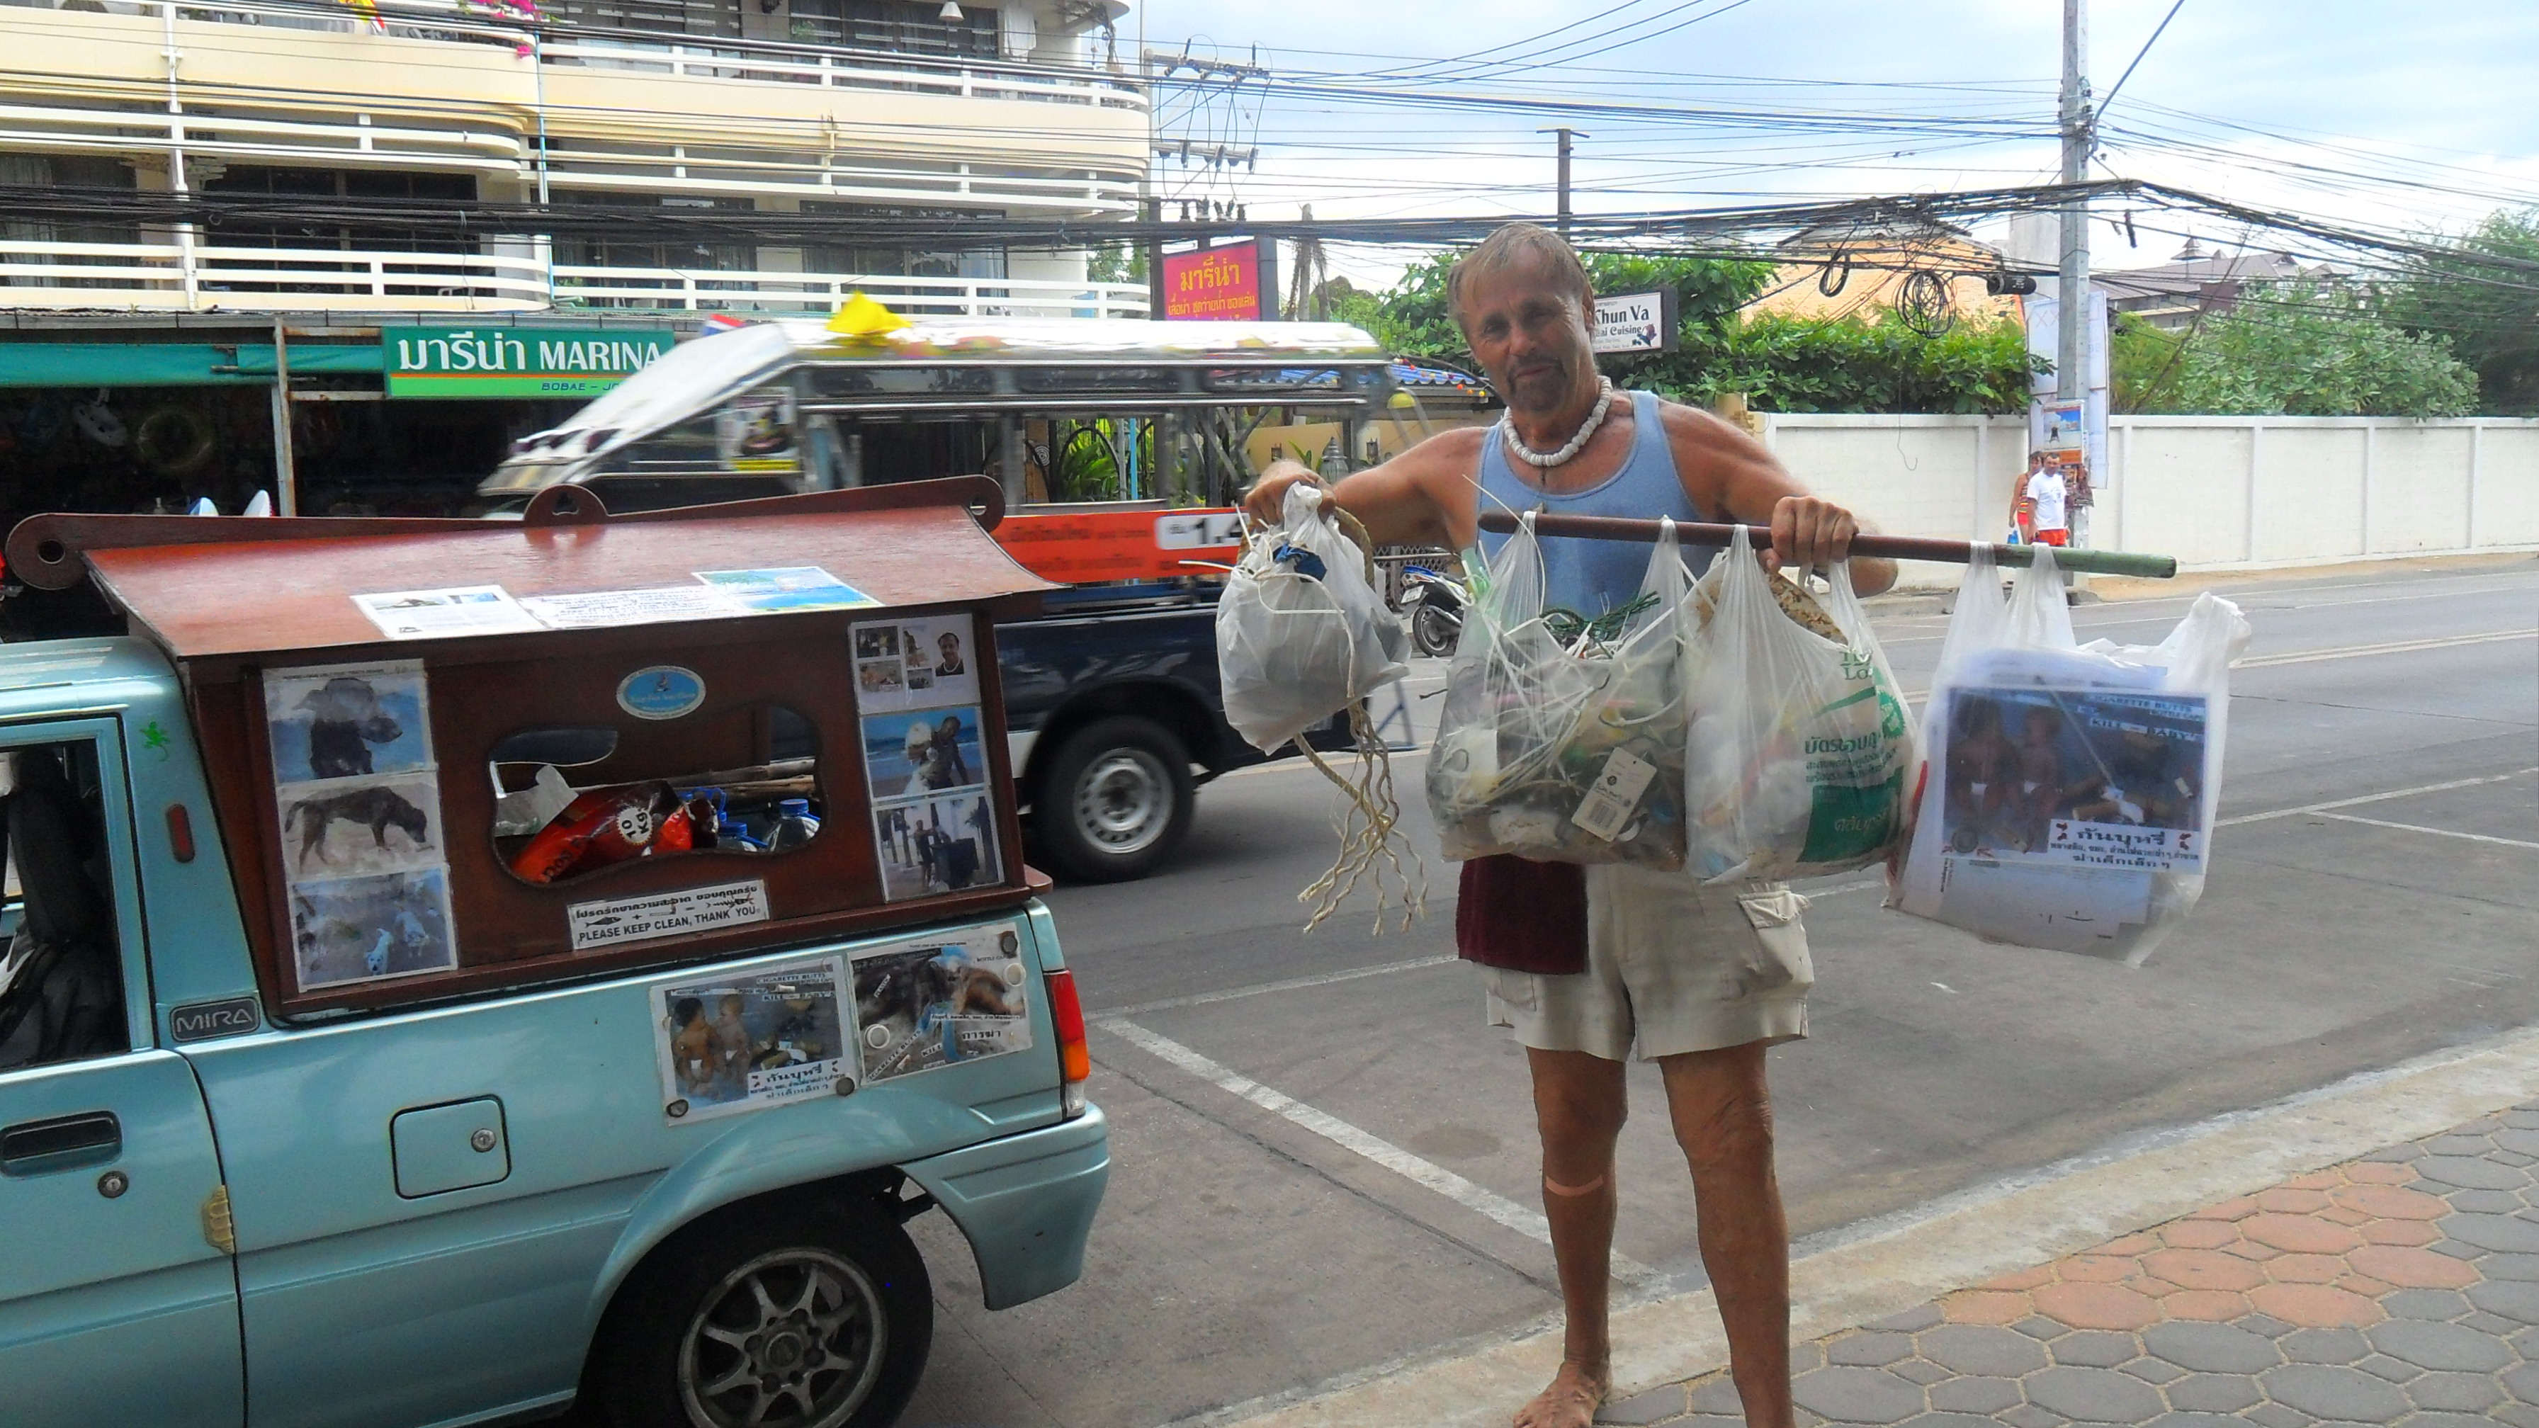
<instances>
[{"instance_id":1,"label":"light green bushy tree above white wall, right of utility pole","mask_svg":"<svg viewBox=\"0 0 2539 1428\"><path fill-rule=\"evenodd\" d=\"M2123 330L2118 404L2224 417L2476 412L2478 374L2450 353L2450 340L2407 330L2382 307L2371 292L2300 277L2252 285L2194 333Z\"/></svg>"}]
</instances>

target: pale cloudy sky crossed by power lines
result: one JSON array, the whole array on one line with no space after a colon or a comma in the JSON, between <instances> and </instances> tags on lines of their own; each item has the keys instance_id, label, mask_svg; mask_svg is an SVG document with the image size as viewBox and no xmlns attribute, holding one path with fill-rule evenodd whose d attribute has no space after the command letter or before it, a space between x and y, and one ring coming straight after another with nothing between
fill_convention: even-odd
<instances>
[{"instance_id":1,"label":"pale cloudy sky crossed by power lines","mask_svg":"<svg viewBox=\"0 0 2539 1428\"><path fill-rule=\"evenodd\" d=\"M2173 0L2092 0L2100 94ZM1170 89L1160 135L1249 163L1158 163L1173 198L1254 216L1549 213L1554 140L1579 211L1732 206L2049 180L2059 0L1150 0L1122 51L1221 56L1272 81ZM2539 0L2184 0L2105 117L2100 178L2151 178L2377 229L2539 203ZM1384 102L1363 99L1381 91ZM1450 109L1569 99L1592 117ZM1615 112L1615 109L1630 112ZM1655 112L1653 112L1655 109ZM2163 262L2166 219L2100 267ZM1381 280L1399 252L1336 249Z\"/></svg>"}]
</instances>

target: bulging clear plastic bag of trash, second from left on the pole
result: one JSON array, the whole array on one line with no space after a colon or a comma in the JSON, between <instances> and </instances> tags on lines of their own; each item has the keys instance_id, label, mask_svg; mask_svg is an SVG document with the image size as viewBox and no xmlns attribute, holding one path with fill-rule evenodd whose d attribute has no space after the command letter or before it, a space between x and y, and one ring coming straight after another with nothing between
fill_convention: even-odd
<instances>
[{"instance_id":1,"label":"bulging clear plastic bag of trash, second from left on the pole","mask_svg":"<svg viewBox=\"0 0 2539 1428\"><path fill-rule=\"evenodd\" d=\"M1691 574L1673 523L1638 600L1594 620L1544 607L1531 518L1478 584L1427 765L1445 856L1683 866Z\"/></svg>"}]
</instances>

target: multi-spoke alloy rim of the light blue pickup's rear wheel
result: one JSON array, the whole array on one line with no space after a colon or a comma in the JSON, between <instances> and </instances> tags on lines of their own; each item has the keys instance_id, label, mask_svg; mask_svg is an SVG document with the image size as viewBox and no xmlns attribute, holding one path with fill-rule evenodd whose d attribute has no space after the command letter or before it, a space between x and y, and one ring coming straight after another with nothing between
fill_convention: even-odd
<instances>
[{"instance_id":1,"label":"multi-spoke alloy rim of the light blue pickup's rear wheel","mask_svg":"<svg viewBox=\"0 0 2539 1428\"><path fill-rule=\"evenodd\" d=\"M696 1428L838 1428L881 1377L881 1291L853 1260L800 1245L706 1293L678 1347Z\"/></svg>"}]
</instances>

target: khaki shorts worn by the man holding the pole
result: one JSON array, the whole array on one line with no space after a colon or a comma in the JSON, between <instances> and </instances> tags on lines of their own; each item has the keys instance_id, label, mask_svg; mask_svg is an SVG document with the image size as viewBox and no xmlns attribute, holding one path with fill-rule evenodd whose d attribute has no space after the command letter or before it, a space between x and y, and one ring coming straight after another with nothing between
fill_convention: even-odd
<instances>
[{"instance_id":1,"label":"khaki shorts worn by the man holding the pole","mask_svg":"<svg viewBox=\"0 0 2539 1428\"><path fill-rule=\"evenodd\" d=\"M1607 1062L1808 1034L1808 899L1777 882L1701 887L1681 872L1587 869L1587 971L1480 968L1490 1027Z\"/></svg>"}]
</instances>

